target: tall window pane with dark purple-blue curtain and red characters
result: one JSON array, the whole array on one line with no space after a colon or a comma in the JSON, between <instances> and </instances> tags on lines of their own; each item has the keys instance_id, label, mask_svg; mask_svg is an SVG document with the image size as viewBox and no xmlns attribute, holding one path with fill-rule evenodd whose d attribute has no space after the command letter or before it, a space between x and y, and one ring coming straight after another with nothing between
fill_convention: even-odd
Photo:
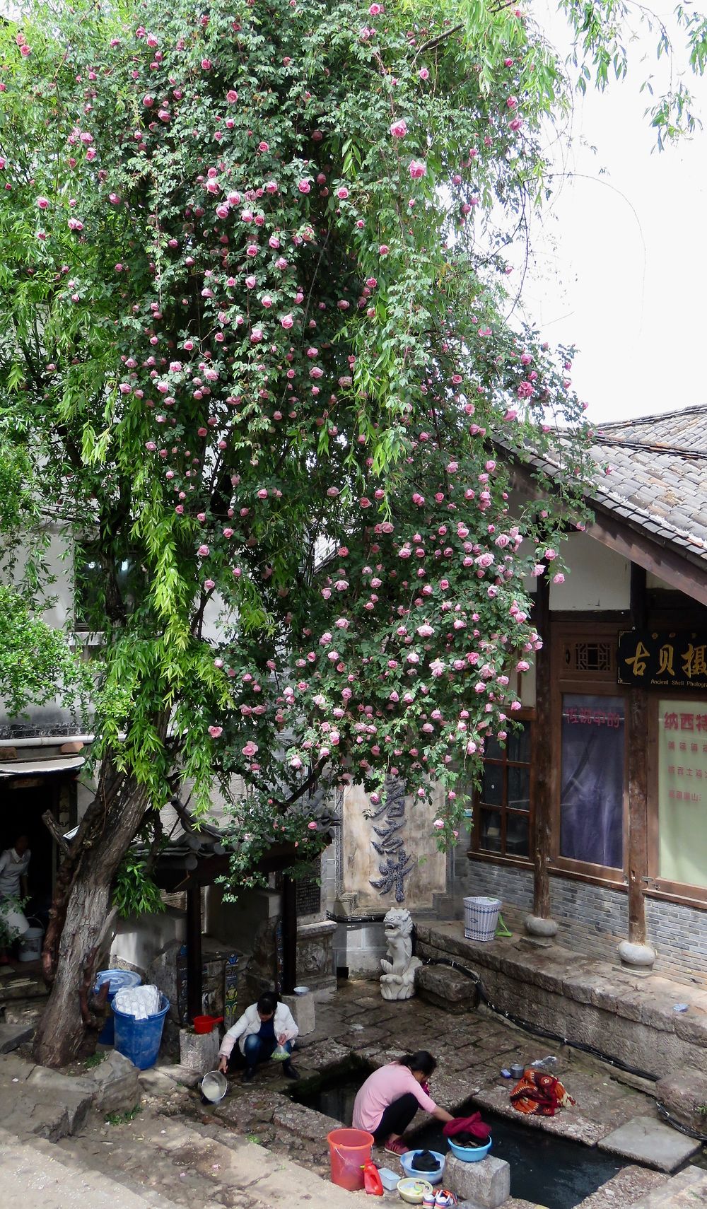
<instances>
[{"instance_id":1,"label":"tall window pane with dark purple-blue curtain and red characters","mask_svg":"<svg viewBox=\"0 0 707 1209\"><path fill-rule=\"evenodd\" d=\"M624 864L624 699L562 698L560 855Z\"/></svg>"}]
</instances>

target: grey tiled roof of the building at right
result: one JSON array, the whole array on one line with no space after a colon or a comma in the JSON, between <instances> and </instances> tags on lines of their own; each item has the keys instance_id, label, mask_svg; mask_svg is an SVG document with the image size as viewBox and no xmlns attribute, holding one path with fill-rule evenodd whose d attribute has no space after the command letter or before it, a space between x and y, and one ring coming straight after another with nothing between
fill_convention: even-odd
<instances>
[{"instance_id":1,"label":"grey tiled roof of the building at right","mask_svg":"<svg viewBox=\"0 0 707 1209\"><path fill-rule=\"evenodd\" d=\"M592 498L707 566L707 404L599 424Z\"/></svg>"}]
</instances>

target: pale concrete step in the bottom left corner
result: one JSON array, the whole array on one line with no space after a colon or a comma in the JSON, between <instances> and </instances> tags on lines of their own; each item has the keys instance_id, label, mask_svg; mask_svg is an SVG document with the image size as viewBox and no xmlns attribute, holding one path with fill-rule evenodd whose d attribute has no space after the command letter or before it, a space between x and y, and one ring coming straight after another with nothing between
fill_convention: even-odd
<instances>
[{"instance_id":1,"label":"pale concrete step in the bottom left corner","mask_svg":"<svg viewBox=\"0 0 707 1209\"><path fill-rule=\"evenodd\" d=\"M151 1188L131 1191L109 1175L71 1163L41 1138L21 1141L0 1128L2 1209L176 1209Z\"/></svg>"}]
</instances>

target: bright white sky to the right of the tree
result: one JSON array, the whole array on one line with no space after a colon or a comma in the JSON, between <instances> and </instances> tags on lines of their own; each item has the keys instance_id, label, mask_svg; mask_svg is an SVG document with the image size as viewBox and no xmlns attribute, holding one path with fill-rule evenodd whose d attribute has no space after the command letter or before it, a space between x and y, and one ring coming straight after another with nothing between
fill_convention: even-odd
<instances>
[{"instance_id":1,"label":"bright white sky to the right of the tree","mask_svg":"<svg viewBox=\"0 0 707 1209\"><path fill-rule=\"evenodd\" d=\"M556 15L544 24L556 46L567 45ZM572 149L557 163L575 177L533 229L526 312L551 343L578 347L573 384L595 421L699 404L707 394L707 132L654 150L650 98L639 86L656 66L655 44L645 34L630 48L626 81L575 98ZM707 82L689 85L707 127Z\"/></svg>"}]
</instances>

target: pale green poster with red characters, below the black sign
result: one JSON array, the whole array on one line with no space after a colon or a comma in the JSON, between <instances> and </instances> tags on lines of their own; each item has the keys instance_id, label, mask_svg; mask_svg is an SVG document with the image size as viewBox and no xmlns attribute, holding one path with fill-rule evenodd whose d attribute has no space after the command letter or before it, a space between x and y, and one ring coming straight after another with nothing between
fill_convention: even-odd
<instances>
[{"instance_id":1,"label":"pale green poster with red characters, below the black sign","mask_svg":"<svg viewBox=\"0 0 707 1209\"><path fill-rule=\"evenodd\" d=\"M707 701L657 702L659 875L707 885Z\"/></svg>"}]
</instances>

